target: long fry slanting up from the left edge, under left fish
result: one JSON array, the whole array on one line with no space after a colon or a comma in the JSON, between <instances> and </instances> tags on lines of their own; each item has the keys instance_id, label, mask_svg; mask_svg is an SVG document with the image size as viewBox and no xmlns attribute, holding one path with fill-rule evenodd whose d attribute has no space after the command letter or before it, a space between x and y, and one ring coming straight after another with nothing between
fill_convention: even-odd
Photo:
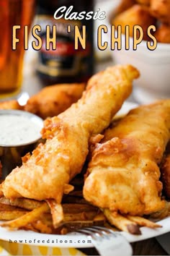
<instances>
[{"instance_id":1,"label":"long fry slanting up from the left edge, under left fish","mask_svg":"<svg viewBox=\"0 0 170 256\"><path fill-rule=\"evenodd\" d=\"M35 208L30 213L26 213L24 216L21 216L13 221L6 221L1 223L1 226L7 226L9 229L19 229L23 226L26 226L28 223L37 221L38 218L49 210L49 206L46 202L40 205L39 208Z\"/></svg>"}]
</instances>

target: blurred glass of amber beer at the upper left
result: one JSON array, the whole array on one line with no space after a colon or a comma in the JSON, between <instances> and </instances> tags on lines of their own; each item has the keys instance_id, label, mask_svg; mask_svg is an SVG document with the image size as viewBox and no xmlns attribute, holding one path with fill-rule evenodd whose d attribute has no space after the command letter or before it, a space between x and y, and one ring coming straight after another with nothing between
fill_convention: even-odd
<instances>
[{"instance_id":1,"label":"blurred glass of amber beer at the upper left","mask_svg":"<svg viewBox=\"0 0 170 256\"><path fill-rule=\"evenodd\" d=\"M30 27L35 0L0 1L0 101L19 95L22 87L24 57L24 26ZM12 27L21 25L17 31L19 42L12 51Z\"/></svg>"}]
</instances>

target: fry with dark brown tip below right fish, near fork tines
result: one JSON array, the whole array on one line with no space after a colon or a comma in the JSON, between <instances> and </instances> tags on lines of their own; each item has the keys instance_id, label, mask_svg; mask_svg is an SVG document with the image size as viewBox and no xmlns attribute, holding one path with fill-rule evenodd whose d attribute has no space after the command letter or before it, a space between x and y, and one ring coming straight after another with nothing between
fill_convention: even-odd
<instances>
[{"instance_id":1,"label":"fry with dark brown tip below right fish, near fork tines","mask_svg":"<svg viewBox=\"0 0 170 256\"><path fill-rule=\"evenodd\" d=\"M104 215L109 223L118 229L129 232L130 234L141 234L139 226L134 221L128 220L128 218L121 216L119 213L104 209Z\"/></svg>"}]
</instances>

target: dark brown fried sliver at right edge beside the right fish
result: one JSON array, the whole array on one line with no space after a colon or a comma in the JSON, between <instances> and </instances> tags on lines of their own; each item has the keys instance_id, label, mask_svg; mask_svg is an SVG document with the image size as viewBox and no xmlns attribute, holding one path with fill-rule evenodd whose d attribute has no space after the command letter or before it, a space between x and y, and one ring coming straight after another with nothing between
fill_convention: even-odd
<instances>
[{"instance_id":1,"label":"dark brown fried sliver at right edge beside the right fish","mask_svg":"<svg viewBox=\"0 0 170 256\"><path fill-rule=\"evenodd\" d=\"M170 199L170 154L166 155L161 163L161 182L165 196Z\"/></svg>"}]
</instances>

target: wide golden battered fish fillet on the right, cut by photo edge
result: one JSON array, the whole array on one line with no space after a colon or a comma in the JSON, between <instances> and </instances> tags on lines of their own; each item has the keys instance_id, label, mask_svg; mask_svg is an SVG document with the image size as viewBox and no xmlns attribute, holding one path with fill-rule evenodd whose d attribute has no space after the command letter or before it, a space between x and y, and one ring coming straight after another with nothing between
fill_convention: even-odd
<instances>
[{"instance_id":1,"label":"wide golden battered fish fillet on the right, cut by photo edge","mask_svg":"<svg viewBox=\"0 0 170 256\"><path fill-rule=\"evenodd\" d=\"M159 182L169 141L170 100L140 106L104 133L92 153L84 197L99 208L143 216L164 208Z\"/></svg>"}]
</instances>

